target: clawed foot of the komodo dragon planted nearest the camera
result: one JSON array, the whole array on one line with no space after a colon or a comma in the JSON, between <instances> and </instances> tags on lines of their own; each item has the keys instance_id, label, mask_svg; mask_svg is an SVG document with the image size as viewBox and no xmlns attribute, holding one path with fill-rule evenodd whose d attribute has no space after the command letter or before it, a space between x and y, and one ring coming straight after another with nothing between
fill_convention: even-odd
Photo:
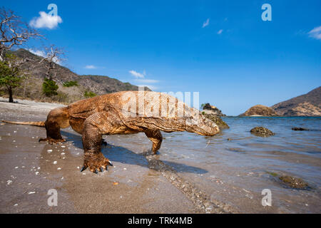
<instances>
[{"instance_id":1,"label":"clawed foot of the komodo dragon planted nearest the camera","mask_svg":"<svg viewBox=\"0 0 321 228\"><path fill-rule=\"evenodd\" d=\"M83 157L84 162L81 172L89 167L91 172L98 174L98 170L103 172L103 169L106 169L108 171L108 165L113 166L113 163L104 157L102 153L85 152Z\"/></svg>"}]
</instances>

